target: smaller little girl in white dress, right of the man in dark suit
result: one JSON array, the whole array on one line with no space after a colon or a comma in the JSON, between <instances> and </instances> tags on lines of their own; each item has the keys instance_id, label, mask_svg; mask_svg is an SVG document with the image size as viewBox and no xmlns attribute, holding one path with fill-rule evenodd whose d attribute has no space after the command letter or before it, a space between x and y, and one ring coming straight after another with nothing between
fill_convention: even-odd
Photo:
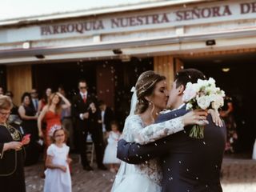
<instances>
[{"instance_id":1,"label":"smaller little girl in white dress, right of the man in dark suit","mask_svg":"<svg viewBox=\"0 0 256 192\"><path fill-rule=\"evenodd\" d=\"M120 164L120 160L117 157L117 146L118 140L120 138L120 132L118 130L118 123L111 122L111 131L108 134L107 138L107 146L103 158L103 163L110 164L110 171L115 173L118 171L118 164Z\"/></svg>"}]
</instances>

